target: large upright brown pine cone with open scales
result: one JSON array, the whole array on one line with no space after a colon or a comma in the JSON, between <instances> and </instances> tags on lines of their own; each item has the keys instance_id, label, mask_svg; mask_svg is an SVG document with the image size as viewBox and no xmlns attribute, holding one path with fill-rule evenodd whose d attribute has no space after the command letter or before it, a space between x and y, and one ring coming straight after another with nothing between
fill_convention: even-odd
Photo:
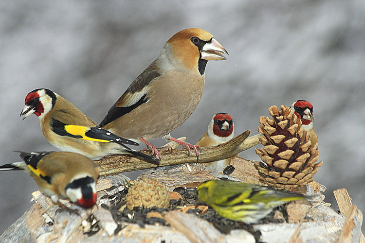
<instances>
[{"instance_id":1,"label":"large upright brown pine cone with open scales","mask_svg":"<svg viewBox=\"0 0 365 243\"><path fill-rule=\"evenodd\" d=\"M260 180L276 189L292 190L313 180L323 161L319 157L318 143L310 149L307 131L300 128L302 121L286 107L269 108L271 120L260 117L258 131L264 136L259 141L262 149L255 149L263 162L255 161Z\"/></svg>"}]
</instances>

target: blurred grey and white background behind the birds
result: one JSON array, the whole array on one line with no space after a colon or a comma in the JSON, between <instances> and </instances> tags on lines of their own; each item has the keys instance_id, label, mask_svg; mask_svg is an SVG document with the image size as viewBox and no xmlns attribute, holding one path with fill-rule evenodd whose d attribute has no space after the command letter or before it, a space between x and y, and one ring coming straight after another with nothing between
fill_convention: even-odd
<instances>
[{"instance_id":1,"label":"blurred grey and white background behind the birds","mask_svg":"<svg viewBox=\"0 0 365 243\"><path fill-rule=\"evenodd\" d=\"M196 143L218 112L232 115L236 135L254 135L271 105L306 99L324 161L315 180L334 208L332 191L347 188L364 211L364 0L3 0L1 163L19 161L14 150L55 150L36 116L19 118L28 92L49 88L99 123L164 43L191 27L210 32L230 55L208 63L201 103L172 136ZM259 159L254 149L240 156ZM35 190L25 173L0 174L0 233L31 206Z\"/></svg>"}]
</instances>

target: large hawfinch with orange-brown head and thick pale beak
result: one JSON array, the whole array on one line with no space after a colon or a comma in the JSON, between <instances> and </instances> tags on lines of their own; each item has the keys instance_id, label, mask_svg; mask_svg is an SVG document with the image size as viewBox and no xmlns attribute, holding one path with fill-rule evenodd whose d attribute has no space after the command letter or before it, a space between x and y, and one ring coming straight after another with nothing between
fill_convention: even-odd
<instances>
[{"instance_id":1,"label":"large hawfinch with orange-brown head and thick pale beak","mask_svg":"<svg viewBox=\"0 0 365 243\"><path fill-rule=\"evenodd\" d=\"M193 113L201 100L209 60L225 60L227 51L208 32L191 28L173 35L152 62L110 108L100 126L123 138L142 141L163 137L198 157L199 146L174 139L170 132Z\"/></svg>"}]
</instances>

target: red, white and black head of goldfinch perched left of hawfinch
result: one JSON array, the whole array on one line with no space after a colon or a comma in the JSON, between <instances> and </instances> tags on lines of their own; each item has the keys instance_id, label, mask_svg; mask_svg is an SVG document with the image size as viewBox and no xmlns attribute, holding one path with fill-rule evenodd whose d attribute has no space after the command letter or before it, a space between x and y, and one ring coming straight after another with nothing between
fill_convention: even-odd
<instances>
[{"instance_id":1,"label":"red, white and black head of goldfinch perched left of hawfinch","mask_svg":"<svg viewBox=\"0 0 365 243\"><path fill-rule=\"evenodd\" d=\"M23 120L32 114L41 118L47 114L55 105L56 94L49 89L35 89L25 97L25 105L20 113Z\"/></svg>"}]
</instances>

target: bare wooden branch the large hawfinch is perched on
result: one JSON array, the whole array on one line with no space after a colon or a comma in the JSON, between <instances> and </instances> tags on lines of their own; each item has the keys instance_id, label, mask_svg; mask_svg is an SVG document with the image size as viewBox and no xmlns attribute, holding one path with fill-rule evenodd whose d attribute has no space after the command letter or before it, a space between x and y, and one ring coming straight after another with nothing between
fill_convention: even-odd
<instances>
[{"instance_id":1,"label":"bare wooden branch the large hawfinch is perched on","mask_svg":"<svg viewBox=\"0 0 365 243\"><path fill-rule=\"evenodd\" d=\"M247 130L237 137L225 143L219 144L218 146L202 148L201 153L199 154L198 162L206 163L229 158L238 154L239 152L257 145L258 138L261 136L261 134L248 138L249 135L250 130ZM170 148L168 150L159 150L159 152L161 153L162 157L159 165L160 167L197 162L196 156L193 153L188 156L185 149ZM100 168L99 176L151 169L156 167L155 164L148 163L137 157L128 155L111 155L95 162Z\"/></svg>"}]
</instances>

